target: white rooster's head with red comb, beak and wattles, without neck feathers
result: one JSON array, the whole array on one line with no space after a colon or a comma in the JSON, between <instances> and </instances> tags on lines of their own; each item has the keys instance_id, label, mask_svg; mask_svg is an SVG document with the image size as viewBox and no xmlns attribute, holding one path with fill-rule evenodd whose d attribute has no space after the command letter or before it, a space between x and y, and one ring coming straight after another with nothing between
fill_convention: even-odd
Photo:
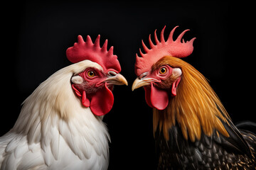
<instances>
[{"instance_id":1,"label":"white rooster's head with red comb, beak and wattles, without neck feathers","mask_svg":"<svg viewBox=\"0 0 256 170\"><path fill-rule=\"evenodd\" d=\"M73 63L90 60L93 64L87 66L82 72L74 74L71 86L75 94L81 98L81 103L95 115L105 115L112 109L114 85L127 85L127 80L119 74L121 67L117 55L113 55L113 47L107 50L107 40L100 47L100 35L95 43L89 35L86 41L78 35L78 42L66 51L68 60Z\"/></svg>"}]
</instances>

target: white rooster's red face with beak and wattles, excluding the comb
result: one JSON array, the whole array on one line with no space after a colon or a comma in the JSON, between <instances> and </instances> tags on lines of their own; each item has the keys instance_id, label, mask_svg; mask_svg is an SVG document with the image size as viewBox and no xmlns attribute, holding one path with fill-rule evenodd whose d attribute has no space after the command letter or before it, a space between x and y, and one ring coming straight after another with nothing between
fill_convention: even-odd
<instances>
[{"instance_id":1,"label":"white rooster's red face with beak and wattles, excluding the comb","mask_svg":"<svg viewBox=\"0 0 256 170\"><path fill-rule=\"evenodd\" d=\"M82 105L90 107L95 115L105 115L110 112L114 96L114 85L127 85L127 80L114 71L106 71L95 63L97 67L88 67L72 77L72 88L78 97L81 97Z\"/></svg>"}]
</instances>

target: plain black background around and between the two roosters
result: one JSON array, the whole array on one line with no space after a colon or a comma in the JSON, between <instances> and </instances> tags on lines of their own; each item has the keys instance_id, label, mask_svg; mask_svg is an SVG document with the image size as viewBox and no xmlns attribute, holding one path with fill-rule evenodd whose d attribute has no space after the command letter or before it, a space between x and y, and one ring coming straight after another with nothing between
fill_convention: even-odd
<instances>
[{"instance_id":1,"label":"plain black background around and between the two roosters","mask_svg":"<svg viewBox=\"0 0 256 170\"><path fill-rule=\"evenodd\" d=\"M194 51L183 59L210 81L234 123L255 121L255 20L252 4L232 1L23 1L1 6L1 133L21 103L51 74L71 64L65 50L77 36L109 40L129 86L116 86L105 115L112 142L110 169L155 169L151 108L144 90L132 91L135 54L143 39L166 26L190 29Z\"/></svg>"}]
</instances>

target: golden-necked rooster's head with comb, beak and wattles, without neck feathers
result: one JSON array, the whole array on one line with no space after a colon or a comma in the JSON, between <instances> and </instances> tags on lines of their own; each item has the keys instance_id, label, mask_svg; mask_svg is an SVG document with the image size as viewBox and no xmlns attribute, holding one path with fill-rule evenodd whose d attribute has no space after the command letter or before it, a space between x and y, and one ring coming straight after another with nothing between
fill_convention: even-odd
<instances>
[{"instance_id":1,"label":"golden-necked rooster's head with comb, beak and wattles, without neck feathers","mask_svg":"<svg viewBox=\"0 0 256 170\"><path fill-rule=\"evenodd\" d=\"M136 54L135 73L137 79L135 79L132 85L132 91L141 86L144 86L146 103L151 108L157 108L158 110L164 110L169 103L169 94L176 96L176 89L181 81L182 69L172 66L166 57L187 57L193 52L193 41L184 42L181 38L188 31L184 30L178 38L174 41L174 30L169 34L168 40L164 40L164 30L161 30L160 41L157 38L156 30L154 32L154 38L156 45L151 41L151 35L149 35L149 46L146 47L142 40L142 47L145 54L139 49L139 57Z\"/></svg>"}]
</instances>

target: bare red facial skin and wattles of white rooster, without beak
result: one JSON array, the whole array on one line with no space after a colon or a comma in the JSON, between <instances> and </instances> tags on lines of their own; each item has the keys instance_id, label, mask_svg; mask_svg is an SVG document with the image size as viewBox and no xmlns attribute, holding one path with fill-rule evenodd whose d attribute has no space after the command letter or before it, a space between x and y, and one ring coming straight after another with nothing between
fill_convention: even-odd
<instances>
[{"instance_id":1,"label":"bare red facial skin and wattles of white rooster, without beak","mask_svg":"<svg viewBox=\"0 0 256 170\"><path fill-rule=\"evenodd\" d=\"M90 107L95 115L107 114L114 103L113 85L107 84L107 75L95 68L85 69L78 74L82 84L72 84L75 94L82 97L82 105Z\"/></svg>"}]
</instances>

